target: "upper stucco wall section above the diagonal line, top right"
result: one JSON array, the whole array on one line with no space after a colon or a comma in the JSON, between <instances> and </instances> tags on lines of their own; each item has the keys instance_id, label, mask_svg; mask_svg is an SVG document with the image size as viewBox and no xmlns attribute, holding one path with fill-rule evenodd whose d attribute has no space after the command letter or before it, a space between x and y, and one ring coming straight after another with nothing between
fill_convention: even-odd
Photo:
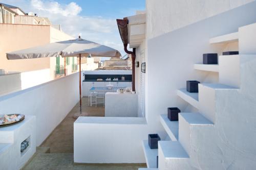
<instances>
[{"instance_id":1,"label":"upper stucco wall section above the diagonal line, top right","mask_svg":"<svg viewBox=\"0 0 256 170\"><path fill-rule=\"evenodd\" d=\"M147 0L148 38L168 33L254 0Z\"/></svg>"}]
</instances>

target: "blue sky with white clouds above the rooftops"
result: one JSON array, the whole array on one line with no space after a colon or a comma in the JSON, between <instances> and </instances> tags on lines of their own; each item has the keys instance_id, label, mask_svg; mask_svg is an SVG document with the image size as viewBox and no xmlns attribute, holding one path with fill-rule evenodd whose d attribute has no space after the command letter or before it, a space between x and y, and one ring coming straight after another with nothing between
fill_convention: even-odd
<instances>
[{"instance_id":1,"label":"blue sky with white clouds above the rooftops","mask_svg":"<svg viewBox=\"0 0 256 170\"><path fill-rule=\"evenodd\" d=\"M48 17L53 25L77 38L98 42L119 50L124 55L116 25L117 18L145 10L145 0L0 0L17 6L26 13Z\"/></svg>"}]
</instances>

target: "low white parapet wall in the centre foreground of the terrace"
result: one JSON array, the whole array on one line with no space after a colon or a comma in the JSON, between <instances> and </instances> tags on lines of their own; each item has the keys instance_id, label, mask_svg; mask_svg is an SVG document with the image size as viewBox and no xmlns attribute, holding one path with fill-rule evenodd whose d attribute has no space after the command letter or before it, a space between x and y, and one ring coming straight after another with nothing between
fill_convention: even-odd
<instances>
[{"instance_id":1,"label":"low white parapet wall in the centre foreground of the terrace","mask_svg":"<svg viewBox=\"0 0 256 170\"><path fill-rule=\"evenodd\" d=\"M143 163L143 117L79 117L74 123L74 162Z\"/></svg>"}]
</instances>

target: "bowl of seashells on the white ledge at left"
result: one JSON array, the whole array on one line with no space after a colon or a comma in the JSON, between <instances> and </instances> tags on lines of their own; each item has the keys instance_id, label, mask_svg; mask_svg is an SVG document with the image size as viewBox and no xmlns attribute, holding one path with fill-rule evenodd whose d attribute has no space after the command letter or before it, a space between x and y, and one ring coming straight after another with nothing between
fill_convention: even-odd
<instances>
[{"instance_id":1,"label":"bowl of seashells on the white ledge at left","mask_svg":"<svg viewBox=\"0 0 256 170\"><path fill-rule=\"evenodd\" d=\"M0 127L16 124L24 120L24 118L24 114L1 114Z\"/></svg>"}]
</instances>

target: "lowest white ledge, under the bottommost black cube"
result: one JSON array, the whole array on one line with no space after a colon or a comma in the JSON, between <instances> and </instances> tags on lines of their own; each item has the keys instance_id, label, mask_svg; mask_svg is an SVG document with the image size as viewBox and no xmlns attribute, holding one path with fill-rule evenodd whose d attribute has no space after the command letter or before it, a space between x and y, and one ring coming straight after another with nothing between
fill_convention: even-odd
<instances>
[{"instance_id":1,"label":"lowest white ledge, under the bottommost black cube","mask_svg":"<svg viewBox=\"0 0 256 170\"><path fill-rule=\"evenodd\" d=\"M143 140L143 151L147 167L157 168L158 149L150 149L150 146L148 146L148 140Z\"/></svg>"}]
</instances>

